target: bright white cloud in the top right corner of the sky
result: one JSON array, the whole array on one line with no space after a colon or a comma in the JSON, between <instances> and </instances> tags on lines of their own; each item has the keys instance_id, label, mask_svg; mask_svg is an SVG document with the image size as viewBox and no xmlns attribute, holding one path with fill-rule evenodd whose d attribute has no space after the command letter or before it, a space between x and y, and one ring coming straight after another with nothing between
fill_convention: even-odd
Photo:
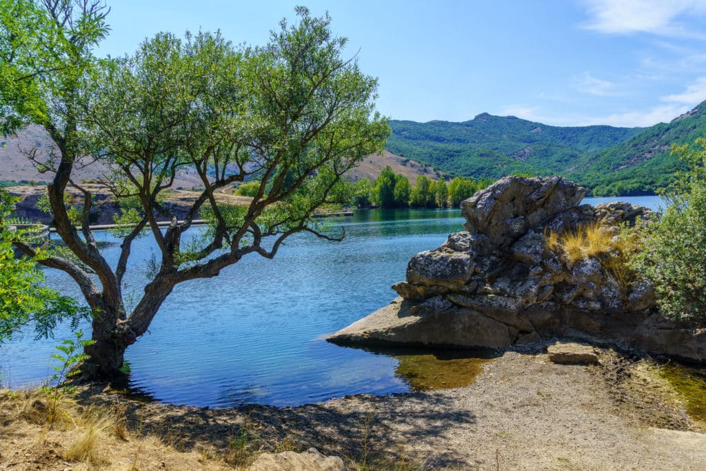
<instances>
[{"instance_id":1,"label":"bright white cloud in the top right corner of the sky","mask_svg":"<svg viewBox=\"0 0 706 471\"><path fill-rule=\"evenodd\" d=\"M706 39L706 35L688 30L678 22L683 15L706 13L706 2L702 0L584 0L584 4L590 20L583 27L589 30Z\"/></svg>"}]
</instances>

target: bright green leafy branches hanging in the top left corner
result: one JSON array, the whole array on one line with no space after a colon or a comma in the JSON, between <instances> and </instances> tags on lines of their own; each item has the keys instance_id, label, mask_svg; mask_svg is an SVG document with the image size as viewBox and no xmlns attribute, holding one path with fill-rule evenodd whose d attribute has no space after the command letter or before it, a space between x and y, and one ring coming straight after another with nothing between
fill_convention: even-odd
<instances>
[{"instance_id":1,"label":"bright green leafy branches hanging in the top left corner","mask_svg":"<svg viewBox=\"0 0 706 471\"><path fill-rule=\"evenodd\" d=\"M102 8L75 14L78 4L47 2L65 19L57 21L40 1L0 2L1 133L28 124L52 133L57 121L76 119L76 91L95 64L92 47L107 32ZM78 139L66 144L78 145Z\"/></svg>"}]
</instances>

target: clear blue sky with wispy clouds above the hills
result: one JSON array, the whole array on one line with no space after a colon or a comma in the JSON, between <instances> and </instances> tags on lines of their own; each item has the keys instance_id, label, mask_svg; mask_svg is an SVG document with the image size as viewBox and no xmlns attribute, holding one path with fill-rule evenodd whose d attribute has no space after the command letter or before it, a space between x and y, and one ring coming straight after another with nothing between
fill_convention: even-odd
<instances>
[{"instance_id":1,"label":"clear blue sky with wispy clouds above the hills","mask_svg":"<svg viewBox=\"0 0 706 471\"><path fill-rule=\"evenodd\" d=\"M706 100L706 0L108 0L99 53L158 31L264 44L297 4L328 11L393 119L489 112L561 126L650 126Z\"/></svg>"}]
</instances>

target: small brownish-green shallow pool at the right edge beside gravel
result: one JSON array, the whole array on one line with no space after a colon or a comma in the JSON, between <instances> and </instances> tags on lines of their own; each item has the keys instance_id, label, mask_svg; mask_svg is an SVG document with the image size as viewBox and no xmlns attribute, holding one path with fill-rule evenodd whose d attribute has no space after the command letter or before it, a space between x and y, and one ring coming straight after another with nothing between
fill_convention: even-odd
<instances>
[{"instance_id":1,"label":"small brownish-green shallow pool at the right edge beside gravel","mask_svg":"<svg viewBox=\"0 0 706 471\"><path fill-rule=\"evenodd\" d=\"M659 373L680 395L691 419L706 427L706 369L670 363Z\"/></svg>"}]
</instances>

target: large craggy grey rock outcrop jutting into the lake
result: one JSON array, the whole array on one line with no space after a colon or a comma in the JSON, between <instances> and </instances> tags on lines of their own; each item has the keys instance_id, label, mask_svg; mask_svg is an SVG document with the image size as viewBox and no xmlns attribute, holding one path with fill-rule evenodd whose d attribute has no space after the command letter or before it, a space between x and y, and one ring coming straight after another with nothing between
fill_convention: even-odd
<instances>
[{"instance_id":1,"label":"large craggy grey rock outcrop jutting into the lake","mask_svg":"<svg viewBox=\"0 0 706 471\"><path fill-rule=\"evenodd\" d=\"M392 304L331 335L340 344L508 347L573 338L702 362L706 330L657 312L654 287L616 271L616 251L571 257L549 234L617 234L654 217L628 203L580 205L561 177L505 177L461 204L467 232L412 257ZM613 250L613 251L611 251Z\"/></svg>"}]
</instances>

